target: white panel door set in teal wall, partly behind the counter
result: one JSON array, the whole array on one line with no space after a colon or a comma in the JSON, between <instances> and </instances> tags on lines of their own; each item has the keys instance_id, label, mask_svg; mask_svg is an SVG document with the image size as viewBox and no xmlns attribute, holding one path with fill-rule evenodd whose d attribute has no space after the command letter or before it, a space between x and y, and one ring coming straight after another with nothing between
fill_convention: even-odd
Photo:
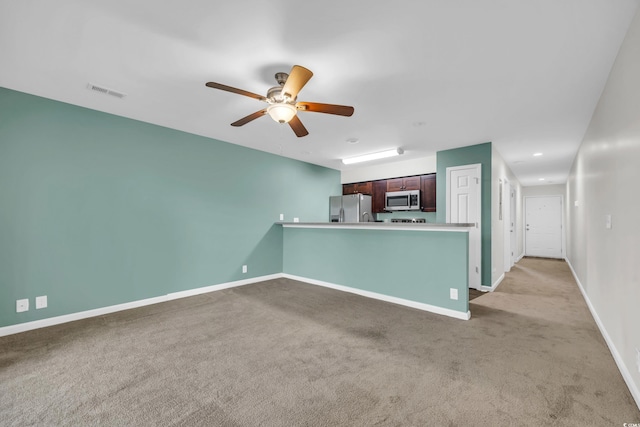
<instances>
[{"instance_id":1,"label":"white panel door set in teal wall, partly behind the counter","mask_svg":"<svg viewBox=\"0 0 640 427\"><path fill-rule=\"evenodd\" d=\"M480 164L447 168L447 222L474 224L469 229L469 287L475 289L482 286L480 177Z\"/></svg>"}]
</instances>

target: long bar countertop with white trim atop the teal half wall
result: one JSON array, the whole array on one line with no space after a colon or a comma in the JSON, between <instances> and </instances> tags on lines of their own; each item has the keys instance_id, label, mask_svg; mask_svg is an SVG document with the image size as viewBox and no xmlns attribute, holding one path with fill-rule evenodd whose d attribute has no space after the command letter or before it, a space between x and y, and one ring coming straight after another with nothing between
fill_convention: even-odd
<instances>
[{"instance_id":1,"label":"long bar countertop with white trim atop the teal half wall","mask_svg":"<svg viewBox=\"0 0 640 427\"><path fill-rule=\"evenodd\" d=\"M285 228L334 228L352 230L415 230L468 232L475 224L413 222L276 222Z\"/></svg>"}]
</instances>

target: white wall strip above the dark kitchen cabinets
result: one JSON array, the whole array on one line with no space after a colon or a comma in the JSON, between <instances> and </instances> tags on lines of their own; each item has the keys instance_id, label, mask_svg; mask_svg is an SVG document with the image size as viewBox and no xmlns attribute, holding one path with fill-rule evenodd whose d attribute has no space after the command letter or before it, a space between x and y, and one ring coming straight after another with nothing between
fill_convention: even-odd
<instances>
[{"instance_id":1,"label":"white wall strip above the dark kitchen cabinets","mask_svg":"<svg viewBox=\"0 0 640 427\"><path fill-rule=\"evenodd\" d=\"M436 156L420 159L399 160L384 165L351 166L341 172L343 184L374 181L376 179L399 178L436 172Z\"/></svg>"}]
</instances>

